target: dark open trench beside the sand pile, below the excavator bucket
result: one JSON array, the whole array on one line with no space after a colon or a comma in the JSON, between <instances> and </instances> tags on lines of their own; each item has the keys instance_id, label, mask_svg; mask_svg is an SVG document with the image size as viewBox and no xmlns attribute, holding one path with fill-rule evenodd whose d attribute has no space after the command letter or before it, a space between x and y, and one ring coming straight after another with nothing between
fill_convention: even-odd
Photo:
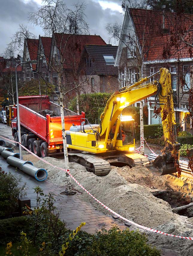
<instances>
[{"instance_id":1,"label":"dark open trench beside the sand pile, below the excavator bucket","mask_svg":"<svg viewBox=\"0 0 193 256\"><path fill-rule=\"evenodd\" d=\"M189 195L172 189L157 191L153 195L168 202L173 212L188 218L193 217L193 198Z\"/></svg>"}]
</instances>

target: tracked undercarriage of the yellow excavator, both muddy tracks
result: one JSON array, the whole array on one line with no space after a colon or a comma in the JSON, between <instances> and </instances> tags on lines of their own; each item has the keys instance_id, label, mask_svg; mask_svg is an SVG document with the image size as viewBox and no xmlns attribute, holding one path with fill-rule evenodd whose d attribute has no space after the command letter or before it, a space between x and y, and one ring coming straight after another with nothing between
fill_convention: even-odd
<instances>
[{"instance_id":1,"label":"tracked undercarriage of the yellow excavator, both muddy tracks","mask_svg":"<svg viewBox=\"0 0 193 256\"><path fill-rule=\"evenodd\" d=\"M111 165L117 167L129 166L143 166L148 162L148 158L134 154L108 154L108 155L94 155L87 152L69 152L68 158L70 162L78 163L97 176L105 176L111 170Z\"/></svg>"}]
</instances>

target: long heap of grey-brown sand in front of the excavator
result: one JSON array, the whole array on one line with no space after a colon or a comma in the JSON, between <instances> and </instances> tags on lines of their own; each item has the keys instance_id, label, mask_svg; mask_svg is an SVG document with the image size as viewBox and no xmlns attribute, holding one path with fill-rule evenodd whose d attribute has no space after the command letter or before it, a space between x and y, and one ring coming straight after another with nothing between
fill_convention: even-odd
<instances>
[{"instance_id":1,"label":"long heap of grey-brown sand in front of the excavator","mask_svg":"<svg viewBox=\"0 0 193 256\"><path fill-rule=\"evenodd\" d=\"M66 173L37 161L31 155L25 155L24 160L30 160L35 166L45 168L48 180L60 186L66 185ZM55 166L65 168L64 160L46 157L45 160ZM152 195L152 189L168 189L171 187L182 191L185 195L193 191L193 184L188 177L177 178L171 175L154 176L145 167L111 167L108 175L98 177L86 171L85 167L69 163L71 174L92 195L118 214L135 223L161 230L165 233L193 237L193 218L180 216L172 212L171 206L162 199ZM96 209L109 214L100 204L94 201L73 180L72 186L82 192L81 200L90 201ZM132 225L132 229L136 229ZM168 250L169 255L191 255L192 242L147 232L149 242L157 248ZM171 251L177 251L173 254ZM185 252L186 251L186 252Z\"/></svg>"}]
</instances>

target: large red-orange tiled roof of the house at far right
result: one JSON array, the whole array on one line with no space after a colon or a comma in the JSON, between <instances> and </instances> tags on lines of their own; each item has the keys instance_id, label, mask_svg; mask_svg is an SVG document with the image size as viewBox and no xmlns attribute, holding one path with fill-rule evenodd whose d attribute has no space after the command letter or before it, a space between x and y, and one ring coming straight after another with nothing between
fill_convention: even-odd
<instances>
[{"instance_id":1,"label":"large red-orange tiled roof of the house at far right","mask_svg":"<svg viewBox=\"0 0 193 256\"><path fill-rule=\"evenodd\" d=\"M141 46L145 42L144 52L147 51L145 55L146 61L192 57L190 48L184 47L183 42L179 42L179 51L179 49L174 47L175 37L171 37L168 33L163 33L162 11L134 8L130 8L129 11ZM179 17L176 13L165 12L165 29L173 35L175 35L174 31L178 23L181 26L183 25L183 29L186 30L192 25L192 21L192 14L184 14ZM193 36L193 32L191 33L189 35L190 40L192 40Z\"/></svg>"}]
</instances>

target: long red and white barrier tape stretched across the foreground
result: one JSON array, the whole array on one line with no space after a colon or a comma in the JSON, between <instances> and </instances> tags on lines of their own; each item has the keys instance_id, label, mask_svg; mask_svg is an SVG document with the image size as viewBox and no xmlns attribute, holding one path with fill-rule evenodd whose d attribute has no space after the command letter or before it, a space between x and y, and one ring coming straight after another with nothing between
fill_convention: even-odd
<instances>
[{"instance_id":1,"label":"long red and white barrier tape stretched across the foreground","mask_svg":"<svg viewBox=\"0 0 193 256\"><path fill-rule=\"evenodd\" d=\"M3 139L6 139L6 140L9 140L11 142L15 142L13 140L10 140L10 139L7 139L7 138L4 138L3 136L0 135L1 138ZM15 143L19 143L19 142L15 142ZM21 145L21 144L20 144ZM120 219L122 220L125 220L129 223L131 223L132 225L134 226L137 226L138 228L141 228L141 229L144 229L144 230L147 230L147 231L151 231L151 232L154 232L154 233L158 233L158 234L162 234L162 235L166 235L166 236L171 236L171 237L177 237L177 238L181 238L181 239L186 239L186 240L193 240L193 237L186 237L186 236L176 236L176 235L171 235L171 234L167 234L165 232L162 232L162 231L159 231L159 230L156 230L156 229L152 229L152 228L148 228L148 227L145 227L145 226L142 226L142 225L139 225L131 220L128 220L126 218L124 218L123 216L121 216L120 214L116 213L115 211L111 210L108 206L106 206L105 204L103 204L102 202L100 202L97 198L95 198L90 192L88 192L87 189L85 189L74 177L73 175L70 173L69 170L65 170L61 167L58 167L58 166L55 166L53 164L50 164L48 161L44 160L43 158L40 158L39 156L35 155L34 153L32 153L31 151L29 151L27 148L25 148L23 145L21 145L22 148L24 148L26 151L28 151L31 155L35 156L36 158L40 159L41 161L45 162L46 164L49 164L55 168L58 168L59 170L62 170L62 171L65 171L67 172L70 177L85 191L88 193L88 195L90 195L94 200L96 200L99 204L101 204L106 210L110 211L112 214L116 215L117 217L119 217Z\"/></svg>"}]
</instances>

